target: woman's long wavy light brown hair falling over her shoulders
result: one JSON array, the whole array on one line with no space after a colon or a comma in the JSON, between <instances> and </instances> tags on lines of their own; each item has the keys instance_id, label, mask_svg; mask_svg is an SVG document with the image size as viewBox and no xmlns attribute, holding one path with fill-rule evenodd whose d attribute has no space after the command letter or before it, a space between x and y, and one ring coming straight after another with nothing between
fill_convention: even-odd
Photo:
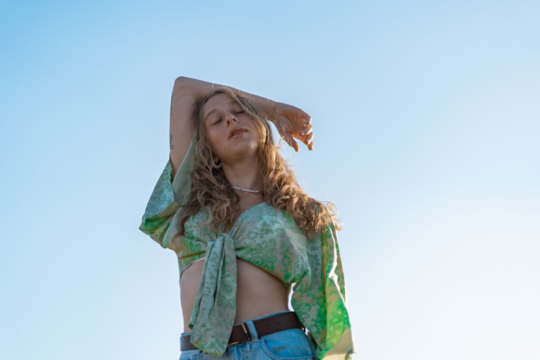
<instances>
[{"instance_id":1,"label":"woman's long wavy light brown hair falling over her shoulders","mask_svg":"<svg viewBox=\"0 0 540 360\"><path fill-rule=\"evenodd\" d=\"M265 114L246 98L224 88L214 90L193 108L196 159L191 175L191 191L180 218L179 235L184 234L186 220L204 207L209 207L212 212L211 228L214 231L218 224L232 225L236 213L240 210L240 197L231 188L222 169L212 167L214 156L206 141L203 108L206 102L217 94L226 94L236 101L257 125L261 134L257 160L262 175L262 197L276 209L285 210L307 237L319 233L324 226L334 221L332 203L323 205L307 196L298 185L294 172L279 153Z\"/></svg>"}]
</instances>

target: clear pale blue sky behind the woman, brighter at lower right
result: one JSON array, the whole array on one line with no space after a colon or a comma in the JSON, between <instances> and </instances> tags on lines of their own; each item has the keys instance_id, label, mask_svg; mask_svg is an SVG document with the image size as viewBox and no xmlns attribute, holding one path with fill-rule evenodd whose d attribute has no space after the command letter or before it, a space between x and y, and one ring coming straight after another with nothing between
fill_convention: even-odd
<instances>
[{"instance_id":1,"label":"clear pale blue sky behind the woman, brighter at lower right","mask_svg":"<svg viewBox=\"0 0 540 360\"><path fill-rule=\"evenodd\" d=\"M313 116L357 355L540 357L540 4L0 3L0 358L177 359L138 230L178 76Z\"/></svg>"}]
</instances>

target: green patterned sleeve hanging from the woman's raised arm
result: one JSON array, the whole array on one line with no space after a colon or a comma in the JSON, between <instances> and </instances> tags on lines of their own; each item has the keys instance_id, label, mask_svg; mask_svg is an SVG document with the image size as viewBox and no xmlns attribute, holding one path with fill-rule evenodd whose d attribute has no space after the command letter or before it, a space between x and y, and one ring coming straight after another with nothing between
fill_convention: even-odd
<instances>
[{"instance_id":1,"label":"green patterned sleeve hanging from the woman's raised arm","mask_svg":"<svg viewBox=\"0 0 540 360\"><path fill-rule=\"evenodd\" d=\"M181 204L185 203L191 189L193 164L192 140L174 180L172 180L172 165L169 159L146 205L139 229L164 248L173 249L173 239L179 231Z\"/></svg>"}]
</instances>

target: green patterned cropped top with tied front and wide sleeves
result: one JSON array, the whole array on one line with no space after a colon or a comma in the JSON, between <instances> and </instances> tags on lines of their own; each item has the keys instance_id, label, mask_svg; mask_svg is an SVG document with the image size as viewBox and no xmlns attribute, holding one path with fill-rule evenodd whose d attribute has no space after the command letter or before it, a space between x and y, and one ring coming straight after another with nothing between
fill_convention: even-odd
<instances>
[{"instance_id":1,"label":"green patterned cropped top with tied front and wide sleeves","mask_svg":"<svg viewBox=\"0 0 540 360\"><path fill-rule=\"evenodd\" d=\"M205 257L189 324L191 342L214 356L227 348L236 313L238 257L287 287L294 283L291 303L318 344L319 359L349 358L353 340L334 225L308 241L286 212L262 202L240 214L228 234L224 226L212 231L211 212L205 208L185 222L183 236L175 236L193 161L192 144L174 181L167 161L139 227L162 247L174 250L180 276Z\"/></svg>"}]
</instances>

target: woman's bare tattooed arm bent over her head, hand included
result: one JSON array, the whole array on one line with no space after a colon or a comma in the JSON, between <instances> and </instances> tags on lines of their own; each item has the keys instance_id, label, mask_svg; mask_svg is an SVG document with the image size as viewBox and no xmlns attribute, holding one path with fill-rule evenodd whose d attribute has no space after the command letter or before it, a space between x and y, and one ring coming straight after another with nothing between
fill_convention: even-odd
<instances>
[{"instance_id":1,"label":"woman's bare tattooed arm bent over her head, hand included","mask_svg":"<svg viewBox=\"0 0 540 360\"><path fill-rule=\"evenodd\" d=\"M193 138L194 124L191 115L194 104L206 94L221 87L225 86L186 77L179 77L174 81L169 134L173 176L180 167ZM287 144L291 145L294 150L299 150L294 138L299 139L306 144L309 150L312 150L313 126L311 125L311 117L305 111L232 87L229 89L249 99L253 105L264 111L267 119L273 121Z\"/></svg>"}]
</instances>

